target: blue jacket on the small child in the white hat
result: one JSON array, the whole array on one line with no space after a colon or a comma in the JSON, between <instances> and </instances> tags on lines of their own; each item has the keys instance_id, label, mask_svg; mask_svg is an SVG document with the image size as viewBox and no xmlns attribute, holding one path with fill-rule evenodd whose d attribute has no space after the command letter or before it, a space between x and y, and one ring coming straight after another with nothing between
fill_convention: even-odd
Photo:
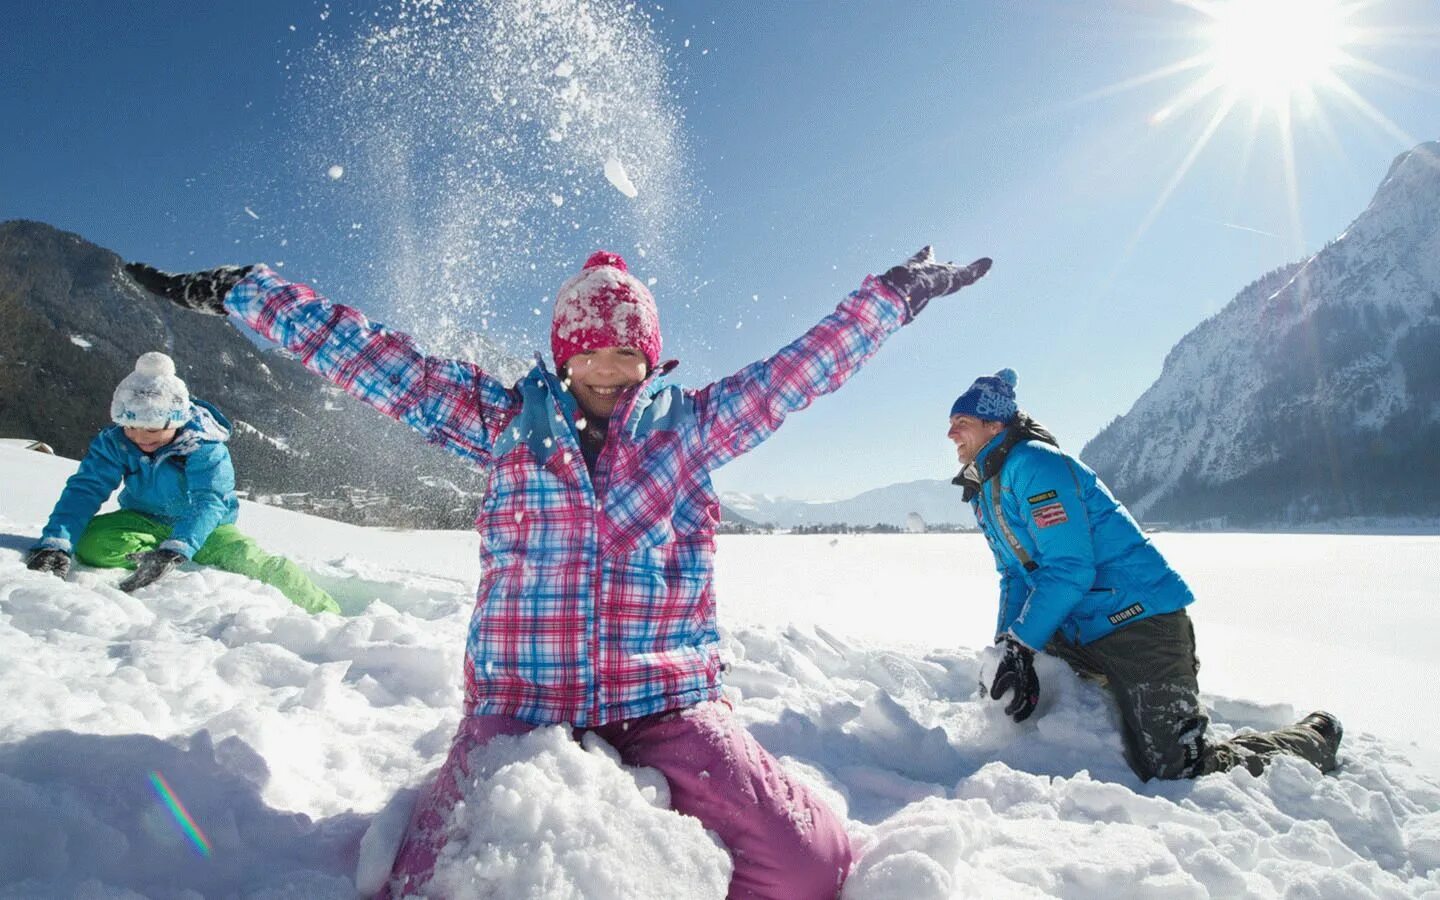
<instances>
[{"instance_id":1,"label":"blue jacket on the small child in the white hat","mask_svg":"<svg viewBox=\"0 0 1440 900\"><path fill-rule=\"evenodd\" d=\"M75 540L124 482L120 508L173 527L161 547L194 556L216 526L239 516L235 467L225 442L230 422L204 400L192 399L190 420L154 455L143 454L111 425L91 441L81 468L65 482L40 534L39 547L75 552Z\"/></svg>"}]
</instances>

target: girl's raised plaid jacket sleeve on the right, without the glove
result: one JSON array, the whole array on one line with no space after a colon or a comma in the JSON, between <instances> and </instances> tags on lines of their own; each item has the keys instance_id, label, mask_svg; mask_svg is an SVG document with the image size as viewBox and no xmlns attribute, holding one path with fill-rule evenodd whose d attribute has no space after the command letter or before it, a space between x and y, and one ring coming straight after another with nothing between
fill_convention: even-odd
<instances>
[{"instance_id":1,"label":"girl's raised plaid jacket sleeve on the right, without the glove","mask_svg":"<svg viewBox=\"0 0 1440 900\"><path fill-rule=\"evenodd\" d=\"M785 416L844 384L907 320L904 300L881 279L867 278L834 312L770 359L696 392L706 468L753 449Z\"/></svg>"}]
</instances>

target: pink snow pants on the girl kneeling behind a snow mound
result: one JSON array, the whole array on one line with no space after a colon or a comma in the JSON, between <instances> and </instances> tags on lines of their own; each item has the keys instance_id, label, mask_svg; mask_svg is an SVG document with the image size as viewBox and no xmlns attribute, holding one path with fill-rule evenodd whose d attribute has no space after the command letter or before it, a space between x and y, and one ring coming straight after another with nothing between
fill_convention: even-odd
<instances>
[{"instance_id":1,"label":"pink snow pants on the girl kneeling behind a snow mound","mask_svg":"<svg viewBox=\"0 0 1440 900\"><path fill-rule=\"evenodd\" d=\"M425 896L445 844L445 821L469 775L471 750L497 734L534 727L507 716L461 720L449 757L415 804L382 900ZM671 806L700 819L724 842L734 864L729 897L829 900L840 893L851 861L842 822L780 768L724 703L589 730L613 746L625 765L660 769L670 782Z\"/></svg>"}]
</instances>

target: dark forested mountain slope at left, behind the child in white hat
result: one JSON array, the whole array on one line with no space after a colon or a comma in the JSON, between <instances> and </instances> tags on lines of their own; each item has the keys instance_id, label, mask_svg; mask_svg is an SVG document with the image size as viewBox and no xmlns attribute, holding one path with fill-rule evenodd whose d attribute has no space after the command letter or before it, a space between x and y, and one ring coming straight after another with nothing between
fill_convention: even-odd
<instances>
[{"instance_id":1,"label":"dark forested mountain slope at left, behind the child in white hat","mask_svg":"<svg viewBox=\"0 0 1440 900\"><path fill-rule=\"evenodd\" d=\"M140 291L115 253L39 222L0 223L0 438L71 458L108 423L109 397L145 350L235 423L242 490L370 524L465 526L484 480L225 320ZM363 305L363 300L356 300ZM527 367L481 336L464 341L501 377Z\"/></svg>"}]
</instances>

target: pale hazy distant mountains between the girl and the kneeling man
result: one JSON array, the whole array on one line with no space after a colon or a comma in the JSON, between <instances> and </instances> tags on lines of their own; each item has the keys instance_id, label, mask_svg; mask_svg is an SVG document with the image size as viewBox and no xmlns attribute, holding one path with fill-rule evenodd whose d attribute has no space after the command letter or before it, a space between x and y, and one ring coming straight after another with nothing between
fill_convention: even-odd
<instances>
[{"instance_id":1,"label":"pale hazy distant mountains between the girl and the kneeling man","mask_svg":"<svg viewBox=\"0 0 1440 900\"><path fill-rule=\"evenodd\" d=\"M919 516L926 526L975 527L971 508L960 501L960 490L936 478L891 484L850 500L811 501L742 492L724 492L720 500L750 521L782 528L829 524L904 528L913 523L912 516Z\"/></svg>"}]
</instances>

